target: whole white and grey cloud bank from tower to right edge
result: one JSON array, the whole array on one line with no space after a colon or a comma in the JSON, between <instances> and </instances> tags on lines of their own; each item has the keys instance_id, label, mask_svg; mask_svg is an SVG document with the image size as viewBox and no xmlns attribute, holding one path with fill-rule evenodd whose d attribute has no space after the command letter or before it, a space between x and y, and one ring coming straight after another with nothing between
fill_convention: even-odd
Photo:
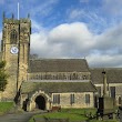
<instances>
[{"instance_id":1,"label":"whole white and grey cloud bank from tower to right edge","mask_svg":"<svg viewBox=\"0 0 122 122\"><path fill-rule=\"evenodd\" d=\"M32 34L31 49L42 58L84 58L91 67L122 67L122 26L93 34L85 23L64 23Z\"/></svg>"}]
</instances>

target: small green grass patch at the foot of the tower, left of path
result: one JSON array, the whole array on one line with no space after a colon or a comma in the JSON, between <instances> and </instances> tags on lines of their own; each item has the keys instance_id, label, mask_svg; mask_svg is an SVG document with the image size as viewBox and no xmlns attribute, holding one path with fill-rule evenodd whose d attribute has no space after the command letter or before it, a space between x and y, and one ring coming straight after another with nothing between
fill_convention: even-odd
<instances>
[{"instance_id":1,"label":"small green grass patch at the foot of the tower, left of path","mask_svg":"<svg viewBox=\"0 0 122 122\"><path fill-rule=\"evenodd\" d=\"M4 114L13 108L13 102L0 102L0 114Z\"/></svg>"}]
</instances>

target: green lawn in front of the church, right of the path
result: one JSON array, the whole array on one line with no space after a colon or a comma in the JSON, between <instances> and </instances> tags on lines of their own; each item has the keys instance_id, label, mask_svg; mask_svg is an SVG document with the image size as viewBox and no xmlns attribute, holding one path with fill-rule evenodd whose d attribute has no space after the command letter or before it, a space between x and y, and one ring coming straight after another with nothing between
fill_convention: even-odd
<instances>
[{"instance_id":1,"label":"green lawn in front of the church, right of the path","mask_svg":"<svg viewBox=\"0 0 122 122\"><path fill-rule=\"evenodd\" d=\"M33 122L33 118L50 118L50 119L69 119L70 122L80 122L88 120L85 113L95 115L95 109L63 109L61 112L51 112L44 114L33 115L29 122ZM89 122L98 122L98 120L90 120ZM116 120L99 121L99 122L118 122Z\"/></svg>"}]
</instances>

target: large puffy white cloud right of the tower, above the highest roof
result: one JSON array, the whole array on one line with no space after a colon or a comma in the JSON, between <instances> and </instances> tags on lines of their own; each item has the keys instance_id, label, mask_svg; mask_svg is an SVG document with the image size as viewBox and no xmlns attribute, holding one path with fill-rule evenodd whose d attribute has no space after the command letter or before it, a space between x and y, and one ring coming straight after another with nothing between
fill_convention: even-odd
<instances>
[{"instance_id":1,"label":"large puffy white cloud right of the tower, above the highest roof","mask_svg":"<svg viewBox=\"0 0 122 122\"><path fill-rule=\"evenodd\" d=\"M89 32L84 23L65 23L55 27L47 34L42 31L40 33L32 34L31 47L33 50L38 50L39 47L41 50L40 55L44 50L47 54L42 57L84 57L84 53L88 53L94 43L92 39L92 33ZM37 49L34 49L34 47L37 47Z\"/></svg>"}]
</instances>

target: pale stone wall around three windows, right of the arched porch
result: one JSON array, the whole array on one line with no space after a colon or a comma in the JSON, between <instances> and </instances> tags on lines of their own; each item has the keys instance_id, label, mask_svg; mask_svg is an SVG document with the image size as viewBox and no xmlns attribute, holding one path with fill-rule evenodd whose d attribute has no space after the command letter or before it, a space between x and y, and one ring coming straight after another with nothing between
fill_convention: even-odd
<instances>
[{"instance_id":1,"label":"pale stone wall around three windows, right of the arched porch","mask_svg":"<svg viewBox=\"0 0 122 122\"><path fill-rule=\"evenodd\" d=\"M53 95L59 93L52 94L52 105L60 105L61 108L93 108L94 106L94 99L92 92L83 92L83 93L60 93L60 103L53 103ZM71 103L71 94L74 94L74 103ZM85 103L85 95L90 95L90 103Z\"/></svg>"}]
</instances>

